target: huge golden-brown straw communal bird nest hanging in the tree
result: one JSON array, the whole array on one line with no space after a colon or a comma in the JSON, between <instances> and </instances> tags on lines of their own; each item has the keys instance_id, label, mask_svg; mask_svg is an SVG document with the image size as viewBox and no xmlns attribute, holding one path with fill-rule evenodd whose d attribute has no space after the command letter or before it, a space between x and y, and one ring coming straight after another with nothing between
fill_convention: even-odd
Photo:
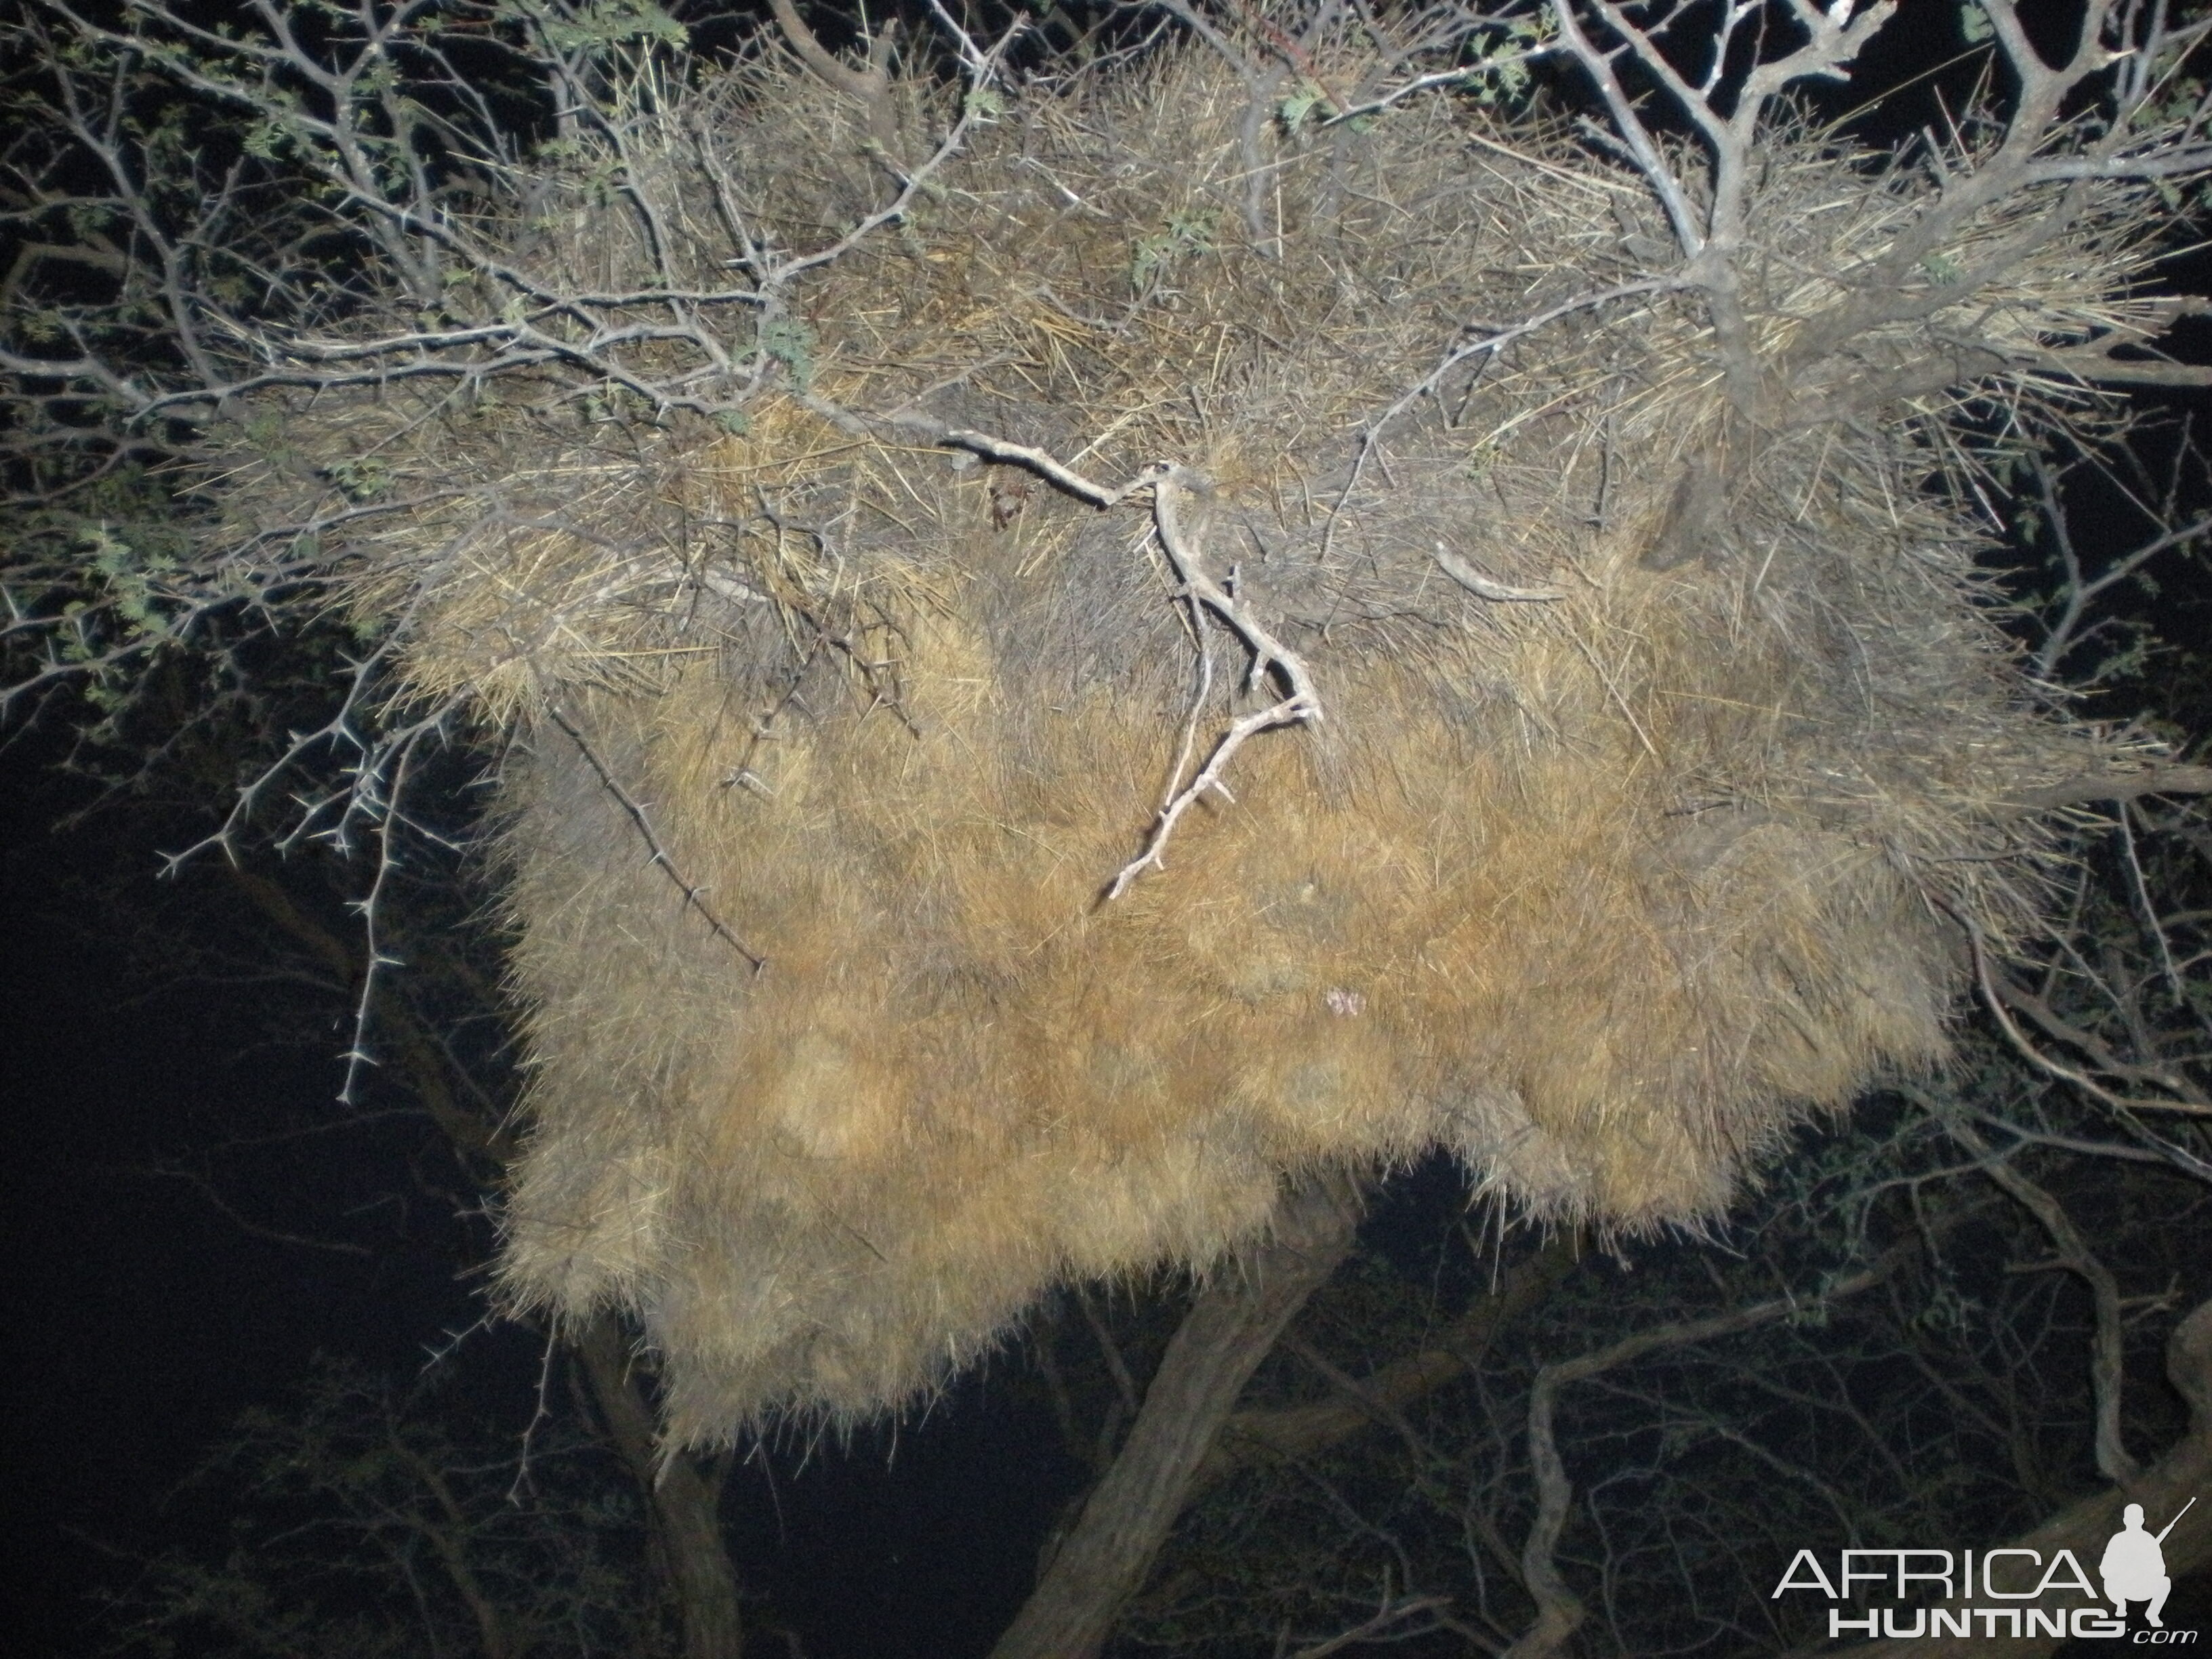
<instances>
[{"instance_id":1,"label":"huge golden-brown straw communal bird nest hanging in the tree","mask_svg":"<svg viewBox=\"0 0 2212 1659\"><path fill-rule=\"evenodd\" d=\"M898 97L927 128L936 95ZM686 204L679 276L723 210L803 248L883 199L880 137L796 71L646 102L626 177ZM1805 137L1761 159L1778 363L1918 186ZM511 234L615 292L635 223L577 177ZM513 732L507 1294L637 1312L672 1438L712 1442L898 1405L1055 1281L1210 1263L1287 1172L1447 1146L1537 1214L1697 1221L1807 1113L1936 1062L1960 922L2024 920L2011 803L2095 765L1984 615L1944 411L1745 442L1699 307L1646 294L1358 442L1471 321L1626 283L1652 234L1566 142L1453 100L1254 137L1172 55L1009 95L761 319L741 431L619 389L288 407L436 480L349 604L411 692ZM2126 325L2097 234L1978 305L2022 343ZM1175 597L1144 511L940 427L1188 467L1190 542L1325 699L1110 902L1179 754L1281 686Z\"/></svg>"}]
</instances>

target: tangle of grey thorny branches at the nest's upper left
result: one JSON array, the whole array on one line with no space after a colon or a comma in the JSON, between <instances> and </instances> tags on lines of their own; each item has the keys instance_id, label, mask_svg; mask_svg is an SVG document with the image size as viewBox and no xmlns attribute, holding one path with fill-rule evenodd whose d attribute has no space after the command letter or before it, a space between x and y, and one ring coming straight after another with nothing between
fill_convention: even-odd
<instances>
[{"instance_id":1,"label":"tangle of grey thorny branches at the nest's upper left","mask_svg":"<svg viewBox=\"0 0 2212 1659\"><path fill-rule=\"evenodd\" d=\"M560 9L509 13L498 4L462 4L436 20L418 13L358 0L307 40L276 7L254 11L259 33L215 33L164 4L133 7L108 27L66 0L51 0L42 13L7 27L11 42L27 49L18 62L33 66L29 82L9 82L9 106L31 100L42 119L27 124L0 157L7 170L0 215L11 228L60 232L20 243L7 272L11 314L0 372L9 376L15 411L4 445L13 460L11 511L49 513L146 462L190 467L199 434L239 420L246 396L270 387L321 394L440 380L473 398L524 374L540 376L538 387L551 385L555 398L628 394L653 420L681 411L734 420L748 400L792 378L776 356L774 325L796 288L902 223L991 108L978 97L960 100L914 166L885 153L894 175L887 199L823 246L796 250L759 232L728 188L714 135L695 128L690 159L719 186L719 221L730 239L723 268L737 276L728 285L684 283L670 274L668 234L677 217L697 230L697 215L664 201L657 195L664 181L633 168L624 119L611 108L639 97L626 86L650 97L664 38L655 33L657 13L641 9L635 35L619 29L606 35L604 20L564 20ZM787 22L796 24L796 15ZM969 91L989 86L1018 33L1020 24L989 51L964 53ZM810 35L787 35L814 73L836 66ZM878 93L887 86L891 40L876 35L867 71L830 75L843 91L867 95L872 126L887 119ZM657 281L580 285L557 263L540 263L526 243L502 237L498 212L480 212L502 199L526 212L526 199L564 181L555 161L522 155L511 117L487 102L456 60L462 49L504 51L524 77L542 77L560 111L562 142L613 170ZM177 153L186 177L157 177L155 168L170 161L157 159L153 146L166 139L148 137L135 100L164 77L208 111L259 122L246 153L212 166L186 144ZM38 104L40 97L46 102ZM276 212L263 208L270 201ZM69 241L71 226L84 228L82 257ZM113 279L115 305L86 303L82 285L58 296L44 281L46 272L86 261ZM361 330L354 325L361 301L367 314L407 323ZM281 451L274 460L296 467ZM425 498L361 498L343 476L334 487L303 482L327 491L303 522L263 526L219 549L206 568L155 560L144 575L128 571L128 580L95 582L77 597L84 584L71 582L69 566L82 553L73 546L60 549L60 568L18 560L0 584L7 599L0 641L29 670L0 684L0 708L33 706L75 681L128 686L155 659L190 648L243 681L257 633L274 633L327 604L330 571L316 557L325 535L349 520L434 507ZM400 856L396 838L403 830L414 834L400 799L407 757L440 737L453 712L438 706L394 721L383 706L389 657L405 630L400 617L372 650L345 664L336 675L338 708L290 734L241 783L215 836L173 858L181 863L206 847L234 854L265 803L283 796L301 803L283 845L321 836L345 847L367 827L376 874L361 916L372 951L347 1053L347 1099L361 1068L374 1064L367 1015L376 980L392 967L374 938L385 876ZM239 697L252 697L250 684ZM564 717L555 710L555 719ZM316 768L332 754L343 776L334 790L316 781ZM759 953L681 880L635 803L626 807L686 905L759 969Z\"/></svg>"}]
</instances>

